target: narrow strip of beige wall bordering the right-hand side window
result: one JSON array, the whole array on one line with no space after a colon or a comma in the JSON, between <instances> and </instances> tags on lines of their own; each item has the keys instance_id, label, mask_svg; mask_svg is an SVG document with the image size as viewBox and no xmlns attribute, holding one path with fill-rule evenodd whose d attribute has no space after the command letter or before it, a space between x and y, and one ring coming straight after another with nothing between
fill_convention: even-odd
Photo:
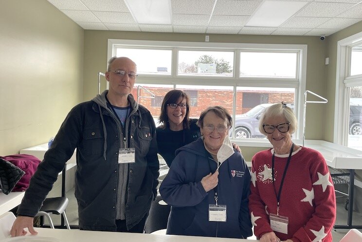
<instances>
[{"instance_id":1,"label":"narrow strip of beige wall bordering the right-hand side window","mask_svg":"<svg viewBox=\"0 0 362 242\"><path fill-rule=\"evenodd\" d=\"M337 42L351 35L362 32L362 21L344 30L341 30L326 38L326 56L329 57L329 65L326 66L326 95L328 104L326 105L326 126L325 140L333 142L334 129L334 106L336 95L336 74L337 74Z\"/></svg>"}]
</instances>

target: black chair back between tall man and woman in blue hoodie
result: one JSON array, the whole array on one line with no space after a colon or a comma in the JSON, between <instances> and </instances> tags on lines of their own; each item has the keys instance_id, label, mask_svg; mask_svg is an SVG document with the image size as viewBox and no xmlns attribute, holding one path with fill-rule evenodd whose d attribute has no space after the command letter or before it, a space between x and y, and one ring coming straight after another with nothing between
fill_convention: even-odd
<instances>
[{"instance_id":1,"label":"black chair back between tall man and woman in blue hoodie","mask_svg":"<svg viewBox=\"0 0 362 242\"><path fill-rule=\"evenodd\" d=\"M149 209L149 215L145 224L145 232L150 234L157 230L167 227L168 215L170 214L171 206L166 204L160 194L156 200L152 202Z\"/></svg>"}]
</instances>

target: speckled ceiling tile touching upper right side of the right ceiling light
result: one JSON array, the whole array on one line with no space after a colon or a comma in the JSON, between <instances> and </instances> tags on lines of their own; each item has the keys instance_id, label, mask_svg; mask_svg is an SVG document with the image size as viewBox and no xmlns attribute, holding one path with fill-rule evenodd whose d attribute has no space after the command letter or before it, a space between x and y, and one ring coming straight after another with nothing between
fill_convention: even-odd
<instances>
[{"instance_id":1,"label":"speckled ceiling tile touching upper right side of the right ceiling light","mask_svg":"<svg viewBox=\"0 0 362 242\"><path fill-rule=\"evenodd\" d=\"M335 17L352 7L354 3L311 2L296 17Z\"/></svg>"}]
</instances>

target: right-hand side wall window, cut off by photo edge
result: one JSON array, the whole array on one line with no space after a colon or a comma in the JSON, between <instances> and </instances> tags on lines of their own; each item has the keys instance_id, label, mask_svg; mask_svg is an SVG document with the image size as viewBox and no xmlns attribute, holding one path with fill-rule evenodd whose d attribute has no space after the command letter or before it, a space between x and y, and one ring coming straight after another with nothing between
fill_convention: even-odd
<instances>
[{"instance_id":1,"label":"right-hand side wall window, cut off by photo edge","mask_svg":"<svg viewBox=\"0 0 362 242\"><path fill-rule=\"evenodd\" d=\"M334 140L362 150L362 32L338 41L337 52Z\"/></svg>"}]
</instances>

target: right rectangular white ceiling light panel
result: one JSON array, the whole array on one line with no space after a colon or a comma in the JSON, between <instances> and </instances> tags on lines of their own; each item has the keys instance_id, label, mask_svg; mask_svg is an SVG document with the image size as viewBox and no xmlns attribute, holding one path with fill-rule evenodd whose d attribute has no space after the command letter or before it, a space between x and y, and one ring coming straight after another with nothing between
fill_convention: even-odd
<instances>
[{"instance_id":1,"label":"right rectangular white ceiling light panel","mask_svg":"<svg viewBox=\"0 0 362 242\"><path fill-rule=\"evenodd\" d=\"M279 27L308 2L264 1L245 26Z\"/></svg>"}]
</instances>

